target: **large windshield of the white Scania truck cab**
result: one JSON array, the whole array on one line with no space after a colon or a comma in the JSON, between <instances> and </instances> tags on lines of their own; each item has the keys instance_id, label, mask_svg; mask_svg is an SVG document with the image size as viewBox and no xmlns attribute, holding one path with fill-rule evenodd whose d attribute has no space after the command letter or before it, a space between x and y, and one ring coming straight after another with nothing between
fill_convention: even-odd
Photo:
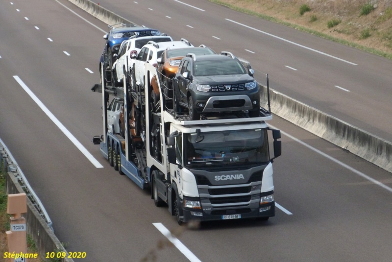
<instances>
[{"instance_id":1,"label":"large windshield of the white Scania truck cab","mask_svg":"<svg viewBox=\"0 0 392 262\"><path fill-rule=\"evenodd\" d=\"M185 167L234 167L270 161L266 129L185 134Z\"/></svg>"}]
</instances>

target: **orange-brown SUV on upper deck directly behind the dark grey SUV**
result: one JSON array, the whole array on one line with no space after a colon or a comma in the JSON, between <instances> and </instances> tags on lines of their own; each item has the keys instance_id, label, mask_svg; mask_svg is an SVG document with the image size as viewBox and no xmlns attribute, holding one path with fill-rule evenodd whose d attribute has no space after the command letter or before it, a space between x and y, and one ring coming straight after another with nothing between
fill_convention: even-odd
<instances>
[{"instance_id":1,"label":"orange-brown SUV on upper deck directly behind the dark grey SUV","mask_svg":"<svg viewBox=\"0 0 392 262\"><path fill-rule=\"evenodd\" d=\"M166 49L163 51L162 56L157 59L157 62L158 71L161 73L161 80L165 90L167 90L166 88L171 89L171 79L178 70L181 59L188 53L194 53L196 55L215 54L214 50L204 45L199 47Z\"/></svg>"}]
</instances>

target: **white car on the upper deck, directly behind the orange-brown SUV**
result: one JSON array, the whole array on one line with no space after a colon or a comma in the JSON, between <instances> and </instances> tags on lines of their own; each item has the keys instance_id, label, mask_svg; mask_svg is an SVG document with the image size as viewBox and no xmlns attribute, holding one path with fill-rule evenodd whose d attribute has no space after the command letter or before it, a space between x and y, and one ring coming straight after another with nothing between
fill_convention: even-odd
<instances>
[{"instance_id":1,"label":"white car on the upper deck, directly behind the orange-brown SUV","mask_svg":"<svg viewBox=\"0 0 392 262\"><path fill-rule=\"evenodd\" d=\"M132 70L135 67L135 80L137 85L144 86L144 72L145 63L149 63L153 66L157 66L157 59L162 56L162 53L166 49L185 48L193 47L186 39L172 42L161 42L156 43L149 41L139 53L131 52L131 59L129 61L129 69Z\"/></svg>"}]
</instances>

